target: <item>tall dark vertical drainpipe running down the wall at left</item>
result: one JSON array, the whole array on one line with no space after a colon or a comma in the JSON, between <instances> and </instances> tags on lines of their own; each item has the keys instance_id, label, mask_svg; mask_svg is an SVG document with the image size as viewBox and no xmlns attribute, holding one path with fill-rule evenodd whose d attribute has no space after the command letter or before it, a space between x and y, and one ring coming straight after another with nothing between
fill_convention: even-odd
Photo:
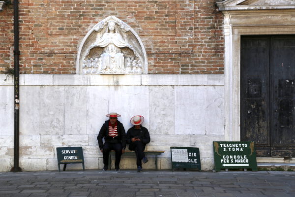
<instances>
[{"instance_id":1,"label":"tall dark vertical drainpipe running down the wall at left","mask_svg":"<svg viewBox=\"0 0 295 197\"><path fill-rule=\"evenodd\" d=\"M14 24L14 166L10 171L20 172L22 168L19 166L19 108L20 108L20 54L19 51L19 15L18 0L13 0L13 24Z\"/></svg>"}]
</instances>

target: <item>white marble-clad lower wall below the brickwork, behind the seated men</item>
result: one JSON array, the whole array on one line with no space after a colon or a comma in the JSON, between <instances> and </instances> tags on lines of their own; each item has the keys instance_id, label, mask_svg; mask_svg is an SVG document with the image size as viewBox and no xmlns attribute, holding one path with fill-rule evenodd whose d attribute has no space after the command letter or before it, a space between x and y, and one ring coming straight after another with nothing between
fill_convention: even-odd
<instances>
[{"instance_id":1,"label":"white marble-clad lower wall below the brickwork, behind the seated men","mask_svg":"<svg viewBox=\"0 0 295 197\"><path fill-rule=\"evenodd\" d=\"M145 117L143 126L151 137L146 149L165 151L158 157L160 169L171 169L171 146L190 146L200 148L202 169L210 170L214 165L212 141L225 140L223 77L21 75L20 166L58 170L56 147L82 146L86 168L101 169L96 137L108 120L105 115L114 111L122 115L118 120L126 131L132 126L132 116ZM0 171L10 170L13 164L11 85L13 81L0 83L0 161L5 165ZM153 157L150 162L146 168L154 167ZM121 168L131 164L135 165L135 158L123 159ZM82 164L67 169L82 170Z\"/></svg>"}]
</instances>

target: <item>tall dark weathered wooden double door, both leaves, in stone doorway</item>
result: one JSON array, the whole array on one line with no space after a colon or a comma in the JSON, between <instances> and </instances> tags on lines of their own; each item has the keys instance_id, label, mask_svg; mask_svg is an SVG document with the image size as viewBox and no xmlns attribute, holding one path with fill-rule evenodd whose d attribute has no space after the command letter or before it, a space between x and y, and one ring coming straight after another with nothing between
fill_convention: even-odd
<instances>
[{"instance_id":1,"label":"tall dark weathered wooden double door, both leaves, in stone doorway","mask_svg":"<svg viewBox=\"0 0 295 197\"><path fill-rule=\"evenodd\" d=\"M295 157L295 36L242 36L240 65L241 140Z\"/></svg>"}]
</instances>

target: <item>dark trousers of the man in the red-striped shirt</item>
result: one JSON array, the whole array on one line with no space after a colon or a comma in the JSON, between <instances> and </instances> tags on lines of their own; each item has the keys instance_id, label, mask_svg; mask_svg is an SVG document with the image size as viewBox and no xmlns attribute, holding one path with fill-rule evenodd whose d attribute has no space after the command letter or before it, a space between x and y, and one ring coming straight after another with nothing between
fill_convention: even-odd
<instances>
[{"instance_id":1,"label":"dark trousers of the man in the red-striped shirt","mask_svg":"<svg viewBox=\"0 0 295 197\"><path fill-rule=\"evenodd\" d=\"M114 150L116 152L115 165L120 164L121 155L122 155L121 143L112 144L112 143L107 143L107 142L104 143L103 150L102 150L103 164L109 165L109 154L110 154L110 151L112 151L112 150Z\"/></svg>"}]
</instances>

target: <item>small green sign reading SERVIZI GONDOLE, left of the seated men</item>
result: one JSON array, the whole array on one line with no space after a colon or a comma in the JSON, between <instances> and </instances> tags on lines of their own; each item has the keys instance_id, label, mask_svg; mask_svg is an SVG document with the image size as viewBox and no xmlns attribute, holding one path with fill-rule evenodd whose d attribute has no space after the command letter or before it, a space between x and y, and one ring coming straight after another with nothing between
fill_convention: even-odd
<instances>
[{"instance_id":1,"label":"small green sign reading SERVIZI GONDOLE, left of the seated men","mask_svg":"<svg viewBox=\"0 0 295 197\"><path fill-rule=\"evenodd\" d=\"M82 163L84 167L84 156L82 147L59 147L57 148L58 164L60 172L60 164L64 164L63 171L66 168L66 164Z\"/></svg>"}]
</instances>

